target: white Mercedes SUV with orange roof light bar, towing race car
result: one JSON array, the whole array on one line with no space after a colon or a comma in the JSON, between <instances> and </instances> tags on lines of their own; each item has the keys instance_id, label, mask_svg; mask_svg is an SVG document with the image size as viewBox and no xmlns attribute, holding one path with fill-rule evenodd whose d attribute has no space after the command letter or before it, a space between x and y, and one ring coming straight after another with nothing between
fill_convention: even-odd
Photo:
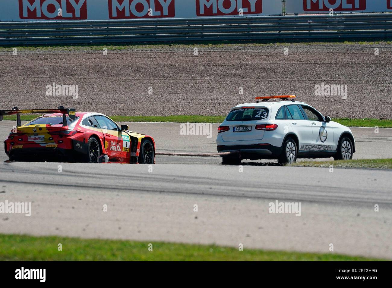
<instances>
[{"instance_id":1,"label":"white Mercedes SUV with orange roof light bar, towing race car","mask_svg":"<svg viewBox=\"0 0 392 288\"><path fill-rule=\"evenodd\" d=\"M269 101L274 98L281 101ZM238 165L241 159L352 159L355 141L350 128L294 98L257 97L261 102L232 108L216 138L218 152L233 152L222 156L222 164Z\"/></svg>"}]
</instances>

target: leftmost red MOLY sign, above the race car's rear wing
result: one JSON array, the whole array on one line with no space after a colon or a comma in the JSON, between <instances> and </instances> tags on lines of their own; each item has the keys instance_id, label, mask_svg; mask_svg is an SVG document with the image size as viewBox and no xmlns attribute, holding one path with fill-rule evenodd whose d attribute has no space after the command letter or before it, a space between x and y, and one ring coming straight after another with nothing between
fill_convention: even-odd
<instances>
[{"instance_id":1,"label":"leftmost red MOLY sign, above the race car's rear wing","mask_svg":"<svg viewBox=\"0 0 392 288\"><path fill-rule=\"evenodd\" d=\"M86 0L19 0L21 19L85 20Z\"/></svg>"}]
</instances>

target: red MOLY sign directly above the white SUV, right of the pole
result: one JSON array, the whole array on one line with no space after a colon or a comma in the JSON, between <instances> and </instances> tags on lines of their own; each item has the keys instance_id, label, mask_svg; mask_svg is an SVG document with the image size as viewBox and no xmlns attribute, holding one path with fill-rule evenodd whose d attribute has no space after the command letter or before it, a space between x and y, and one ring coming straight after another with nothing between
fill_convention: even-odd
<instances>
[{"instance_id":1,"label":"red MOLY sign directly above the white SUV, right of the pole","mask_svg":"<svg viewBox=\"0 0 392 288\"><path fill-rule=\"evenodd\" d=\"M365 10L366 0L303 0L304 11L354 11Z\"/></svg>"}]
</instances>

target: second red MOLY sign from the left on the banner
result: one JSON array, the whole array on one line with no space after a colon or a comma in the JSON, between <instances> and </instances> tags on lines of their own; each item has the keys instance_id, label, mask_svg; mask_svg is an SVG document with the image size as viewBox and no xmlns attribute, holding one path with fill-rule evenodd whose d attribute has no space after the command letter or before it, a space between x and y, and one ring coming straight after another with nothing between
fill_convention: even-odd
<instances>
[{"instance_id":1,"label":"second red MOLY sign from the left on the banner","mask_svg":"<svg viewBox=\"0 0 392 288\"><path fill-rule=\"evenodd\" d=\"M109 18L164 18L174 17L175 0L108 0Z\"/></svg>"}]
</instances>

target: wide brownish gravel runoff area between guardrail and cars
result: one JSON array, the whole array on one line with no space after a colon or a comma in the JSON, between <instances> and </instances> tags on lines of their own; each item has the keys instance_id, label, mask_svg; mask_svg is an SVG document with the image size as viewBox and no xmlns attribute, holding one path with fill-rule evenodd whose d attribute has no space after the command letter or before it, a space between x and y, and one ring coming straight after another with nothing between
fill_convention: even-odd
<instances>
[{"instance_id":1,"label":"wide brownish gravel runoff area between guardrail and cars","mask_svg":"<svg viewBox=\"0 0 392 288\"><path fill-rule=\"evenodd\" d=\"M0 109L61 104L109 115L224 115L255 96L296 94L332 118L392 118L391 46L151 45L108 47L107 55L103 46L19 48L17 55L2 48ZM78 99L47 96L46 86L53 82L78 85ZM347 99L315 96L315 85L321 83L347 85Z\"/></svg>"}]
</instances>

